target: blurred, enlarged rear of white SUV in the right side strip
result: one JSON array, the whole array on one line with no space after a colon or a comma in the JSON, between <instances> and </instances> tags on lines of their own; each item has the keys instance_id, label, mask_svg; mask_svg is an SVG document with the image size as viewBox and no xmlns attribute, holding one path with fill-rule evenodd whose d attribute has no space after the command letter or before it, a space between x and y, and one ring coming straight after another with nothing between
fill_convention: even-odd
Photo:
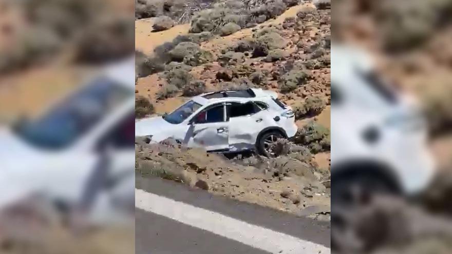
<instances>
[{"instance_id":1,"label":"blurred, enlarged rear of white SUV in the right side strip","mask_svg":"<svg viewBox=\"0 0 452 254\"><path fill-rule=\"evenodd\" d=\"M355 48L333 46L331 66L331 244L361 253L385 235L369 216L373 198L416 196L436 166L413 97L386 85Z\"/></svg>"}]
</instances>

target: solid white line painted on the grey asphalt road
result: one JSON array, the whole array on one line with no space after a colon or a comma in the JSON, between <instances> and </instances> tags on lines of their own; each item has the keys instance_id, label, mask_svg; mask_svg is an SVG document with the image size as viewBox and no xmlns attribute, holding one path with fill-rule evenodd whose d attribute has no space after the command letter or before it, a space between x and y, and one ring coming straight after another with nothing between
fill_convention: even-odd
<instances>
[{"instance_id":1,"label":"solid white line painted on the grey asphalt road","mask_svg":"<svg viewBox=\"0 0 452 254\"><path fill-rule=\"evenodd\" d=\"M331 250L323 245L252 225L224 216L221 213L161 197L140 189L135 189L135 207L271 253L331 253Z\"/></svg>"}]
</instances>

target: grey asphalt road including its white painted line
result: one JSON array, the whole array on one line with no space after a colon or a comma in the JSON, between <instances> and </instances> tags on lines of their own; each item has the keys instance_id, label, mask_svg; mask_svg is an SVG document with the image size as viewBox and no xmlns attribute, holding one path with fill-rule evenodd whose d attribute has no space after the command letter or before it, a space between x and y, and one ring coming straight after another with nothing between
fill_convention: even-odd
<instances>
[{"instance_id":1,"label":"grey asphalt road including its white painted line","mask_svg":"<svg viewBox=\"0 0 452 254\"><path fill-rule=\"evenodd\" d=\"M329 253L330 224L136 177L135 253Z\"/></svg>"}]
</instances>

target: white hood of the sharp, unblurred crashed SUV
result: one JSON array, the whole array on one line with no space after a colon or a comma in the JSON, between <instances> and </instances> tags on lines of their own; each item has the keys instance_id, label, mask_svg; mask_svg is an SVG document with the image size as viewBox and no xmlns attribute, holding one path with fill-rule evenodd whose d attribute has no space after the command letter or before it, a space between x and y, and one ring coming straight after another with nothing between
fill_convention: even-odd
<instances>
[{"instance_id":1,"label":"white hood of the sharp, unblurred crashed SUV","mask_svg":"<svg viewBox=\"0 0 452 254\"><path fill-rule=\"evenodd\" d=\"M160 142L170 137L176 128L176 124L166 122L161 116L145 118L135 122L135 136L152 135L152 141Z\"/></svg>"}]
</instances>

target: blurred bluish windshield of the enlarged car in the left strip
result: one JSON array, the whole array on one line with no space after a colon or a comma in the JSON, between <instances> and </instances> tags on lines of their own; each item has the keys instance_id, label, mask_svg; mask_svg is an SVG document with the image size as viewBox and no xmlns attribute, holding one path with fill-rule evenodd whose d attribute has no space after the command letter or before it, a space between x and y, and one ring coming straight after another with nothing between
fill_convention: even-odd
<instances>
[{"instance_id":1,"label":"blurred bluish windshield of the enlarged car in the left strip","mask_svg":"<svg viewBox=\"0 0 452 254\"><path fill-rule=\"evenodd\" d=\"M28 143L41 148L64 148L130 96L133 93L129 89L99 79L56 105L42 118L17 126L15 132Z\"/></svg>"}]
</instances>

